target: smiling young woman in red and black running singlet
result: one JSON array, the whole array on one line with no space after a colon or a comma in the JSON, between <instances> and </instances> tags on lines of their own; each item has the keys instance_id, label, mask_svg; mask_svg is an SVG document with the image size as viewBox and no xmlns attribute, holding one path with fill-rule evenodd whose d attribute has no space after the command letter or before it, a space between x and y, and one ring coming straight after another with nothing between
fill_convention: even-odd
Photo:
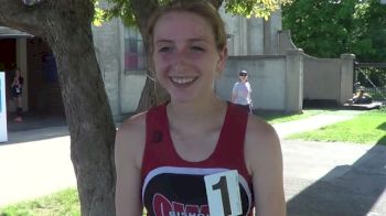
<instances>
[{"instance_id":1,"label":"smiling young woman in red and black running singlet","mask_svg":"<svg viewBox=\"0 0 386 216\"><path fill-rule=\"evenodd\" d=\"M275 130L214 93L227 58L217 11L204 0L174 1L152 15L148 33L152 69L171 99L117 132L117 215L139 216L144 206L151 216L207 216L204 176L228 170L238 172L242 215L286 215Z\"/></svg>"}]
</instances>

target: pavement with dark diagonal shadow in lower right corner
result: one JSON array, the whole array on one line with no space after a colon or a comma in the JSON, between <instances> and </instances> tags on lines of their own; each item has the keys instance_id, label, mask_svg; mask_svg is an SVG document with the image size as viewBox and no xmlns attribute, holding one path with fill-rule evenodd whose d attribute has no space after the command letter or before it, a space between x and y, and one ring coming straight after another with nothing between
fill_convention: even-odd
<instances>
[{"instance_id":1,"label":"pavement with dark diagonal shadow in lower right corner","mask_svg":"<svg viewBox=\"0 0 386 216\"><path fill-rule=\"evenodd\" d=\"M386 147L283 141L288 216L386 216Z\"/></svg>"}]
</instances>

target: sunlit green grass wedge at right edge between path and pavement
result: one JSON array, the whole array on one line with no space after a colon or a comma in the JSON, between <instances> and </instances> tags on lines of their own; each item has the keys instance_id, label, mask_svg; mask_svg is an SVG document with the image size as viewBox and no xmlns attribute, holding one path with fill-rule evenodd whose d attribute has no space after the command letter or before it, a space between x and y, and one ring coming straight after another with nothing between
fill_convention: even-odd
<instances>
[{"instance_id":1,"label":"sunlit green grass wedge at right edge between path and pavement","mask_svg":"<svg viewBox=\"0 0 386 216\"><path fill-rule=\"evenodd\" d=\"M351 120L290 134L286 139L386 145L386 110L366 111Z\"/></svg>"}]
</instances>

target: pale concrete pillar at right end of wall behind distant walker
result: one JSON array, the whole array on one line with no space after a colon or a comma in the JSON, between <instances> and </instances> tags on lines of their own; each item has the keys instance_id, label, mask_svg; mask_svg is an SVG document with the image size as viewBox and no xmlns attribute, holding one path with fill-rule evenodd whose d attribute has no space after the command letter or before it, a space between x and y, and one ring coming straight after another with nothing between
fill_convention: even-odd
<instances>
[{"instance_id":1,"label":"pale concrete pillar at right end of wall behind distant walker","mask_svg":"<svg viewBox=\"0 0 386 216\"><path fill-rule=\"evenodd\" d=\"M303 51L288 50L286 53L285 111L300 112L303 107Z\"/></svg>"}]
</instances>

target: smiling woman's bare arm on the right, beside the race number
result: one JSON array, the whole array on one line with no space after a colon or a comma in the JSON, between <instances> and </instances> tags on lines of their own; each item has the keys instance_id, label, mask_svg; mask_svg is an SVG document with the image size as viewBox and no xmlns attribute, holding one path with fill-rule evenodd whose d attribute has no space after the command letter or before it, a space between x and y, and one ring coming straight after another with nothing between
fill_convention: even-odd
<instances>
[{"instance_id":1,"label":"smiling woman's bare arm on the right, beside the race number","mask_svg":"<svg viewBox=\"0 0 386 216\"><path fill-rule=\"evenodd\" d=\"M280 141L271 126L254 116L248 120L245 155L253 175L256 215L285 216Z\"/></svg>"}]
</instances>

